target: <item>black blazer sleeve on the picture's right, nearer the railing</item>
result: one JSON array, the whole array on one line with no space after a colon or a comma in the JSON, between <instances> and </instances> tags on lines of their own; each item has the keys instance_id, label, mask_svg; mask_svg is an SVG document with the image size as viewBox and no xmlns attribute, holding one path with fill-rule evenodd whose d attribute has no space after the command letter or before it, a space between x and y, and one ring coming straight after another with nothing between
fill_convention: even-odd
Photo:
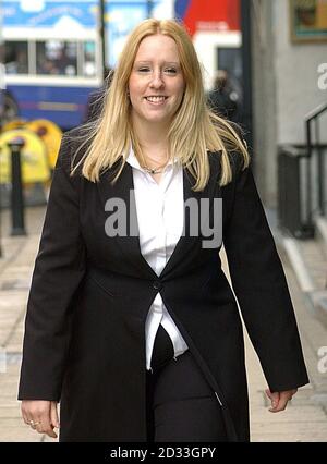
<instances>
[{"instance_id":1,"label":"black blazer sleeve on the picture's right, nearer the railing","mask_svg":"<svg viewBox=\"0 0 327 464\"><path fill-rule=\"evenodd\" d=\"M270 390L298 388L308 378L294 310L251 167L233 184L223 231L233 290Z\"/></svg>"}]
</instances>

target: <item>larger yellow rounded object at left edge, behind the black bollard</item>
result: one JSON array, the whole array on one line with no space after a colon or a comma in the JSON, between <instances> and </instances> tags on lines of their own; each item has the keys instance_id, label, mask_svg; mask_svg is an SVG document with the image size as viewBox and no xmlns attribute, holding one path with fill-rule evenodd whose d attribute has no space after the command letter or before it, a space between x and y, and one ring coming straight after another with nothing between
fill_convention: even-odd
<instances>
[{"instance_id":1,"label":"larger yellow rounded object at left edge, behind the black bollard","mask_svg":"<svg viewBox=\"0 0 327 464\"><path fill-rule=\"evenodd\" d=\"M22 138L22 181L23 183L47 182L50 180L50 168L45 143L27 129L7 131L0 136L0 184L11 183L11 150L8 143Z\"/></svg>"}]
</instances>

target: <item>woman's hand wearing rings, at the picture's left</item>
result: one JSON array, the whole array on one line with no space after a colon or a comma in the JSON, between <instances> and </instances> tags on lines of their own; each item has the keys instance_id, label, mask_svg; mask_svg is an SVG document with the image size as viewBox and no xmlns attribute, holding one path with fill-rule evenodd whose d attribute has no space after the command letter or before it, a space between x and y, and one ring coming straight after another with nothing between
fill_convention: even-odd
<instances>
[{"instance_id":1,"label":"woman's hand wearing rings, at the picture's left","mask_svg":"<svg viewBox=\"0 0 327 464\"><path fill-rule=\"evenodd\" d=\"M23 400L22 416L25 424L39 434L57 438L55 427L59 427L57 402L43 400Z\"/></svg>"}]
</instances>

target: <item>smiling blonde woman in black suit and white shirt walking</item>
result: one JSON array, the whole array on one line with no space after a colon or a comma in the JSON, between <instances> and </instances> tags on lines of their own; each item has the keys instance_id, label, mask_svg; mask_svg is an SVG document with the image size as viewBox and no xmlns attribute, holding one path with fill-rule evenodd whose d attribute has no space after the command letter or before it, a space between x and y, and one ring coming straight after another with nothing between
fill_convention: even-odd
<instances>
[{"instance_id":1,"label":"smiling blonde woman in black suit and white shirt walking","mask_svg":"<svg viewBox=\"0 0 327 464\"><path fill-rule=\"evenodd\" d=\"M60 150L19 393L35 430L56 437L60 401L62 441L249 440L242 326L221 239L270 411L307 382L238 134L208 110L185 30L140 24L99 121Z\"/></svg>"}]
</instances>

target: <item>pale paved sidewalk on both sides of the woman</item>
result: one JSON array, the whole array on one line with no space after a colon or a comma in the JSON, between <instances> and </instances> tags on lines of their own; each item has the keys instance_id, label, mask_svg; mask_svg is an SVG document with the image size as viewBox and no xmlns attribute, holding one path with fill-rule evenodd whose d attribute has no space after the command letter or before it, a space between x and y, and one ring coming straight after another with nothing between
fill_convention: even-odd
<instances>
[{"instance_id":1,"label":"pale paved sidewalk on both sides of the woman","mask_svg":"<svg viewBox=\"0 0 327 464\"><path fill-rule=\"evenodd\" d=\"M27 210L25 237L10 236L9 211L0 213L0 441L52 441L22 422L16 400L26 298L45 208ZM283 265L296 308L311 384L300 389L287 411L269 413L265 379L246 339L252 441L327 441L327 373L318 370L318 349L327 345L327 330L311 314L288 262ZM7 366L3 366L4 354Z\"/></svg>"}]
</instances>

